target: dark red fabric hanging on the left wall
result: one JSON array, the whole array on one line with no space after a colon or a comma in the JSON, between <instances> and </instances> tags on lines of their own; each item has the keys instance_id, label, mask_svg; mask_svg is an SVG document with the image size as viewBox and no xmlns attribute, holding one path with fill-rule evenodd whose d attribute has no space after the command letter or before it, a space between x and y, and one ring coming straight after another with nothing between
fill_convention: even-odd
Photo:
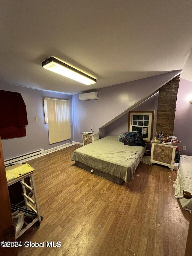
<instances>
[{"instance_id":1,"label":"dark red fabric hanging on the left wall","mask_svg":"<svg viewBox=\"0 0 192 256\"><path fill-rule=\"evenodd\" d=\"M27 111L21 94L0 90L1 139L26 136L26 125Z\"/></svg>"}]
</instances>

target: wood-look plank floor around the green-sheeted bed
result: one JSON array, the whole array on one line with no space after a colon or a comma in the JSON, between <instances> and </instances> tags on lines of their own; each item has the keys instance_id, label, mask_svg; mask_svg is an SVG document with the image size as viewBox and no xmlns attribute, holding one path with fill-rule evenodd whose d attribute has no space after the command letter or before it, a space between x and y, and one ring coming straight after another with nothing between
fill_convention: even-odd
<instances>
[{"instance_id":1,"label":"wood-look plank floor around the green-sheeted bed","mask_svg":"<svg viewBox=\"0 0 192 256\"><path fill-rule=\"evenodd\" d=\"M140 163L131 185L115 184L74 166L71 146L29 161L41 225L17 241L45 241L18 249L30 256L184 256L189 212L180 209L165 167ZM61 242L47 248L46 241Z\"/></svg>"}]
</instances>

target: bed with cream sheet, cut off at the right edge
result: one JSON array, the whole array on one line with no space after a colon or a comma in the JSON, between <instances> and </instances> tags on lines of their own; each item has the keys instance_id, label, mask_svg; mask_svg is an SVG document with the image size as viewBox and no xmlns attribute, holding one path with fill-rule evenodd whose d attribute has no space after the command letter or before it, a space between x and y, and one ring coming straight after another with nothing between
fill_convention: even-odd
<instances>
[{"instance_id":1,"label":"bed with cream sheet, cut off at the right edge","mask_svg":"<svg viewBox=\"0 0 192 256\"><path fill-rule=\"evenodd\" d=\"M192 199L183 198L183 190L192 194L192 156L180 156L177 179L173 181L173 187L175 188L175 197L179 198L183 209L191 212Z\"/></svg>"}]
</instances>

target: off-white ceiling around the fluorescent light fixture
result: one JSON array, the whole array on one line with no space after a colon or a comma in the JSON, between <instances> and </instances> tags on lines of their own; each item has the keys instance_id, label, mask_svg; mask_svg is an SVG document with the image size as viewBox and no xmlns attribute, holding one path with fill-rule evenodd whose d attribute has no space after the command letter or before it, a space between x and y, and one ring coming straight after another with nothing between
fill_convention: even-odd
<instances>
[{"instance_id":1,"label":"off-white ceiling around the fluorescent light fixture","mask_svg":"<svg viewBox=\"0 0 192 256\"><path fill-rule=\"evenodd\" d=\"M0 1L0 81L65 93L183 69L192 81L191 0ZM86 86L41 67L55 56Z\"/></svg>"}]
</instances>

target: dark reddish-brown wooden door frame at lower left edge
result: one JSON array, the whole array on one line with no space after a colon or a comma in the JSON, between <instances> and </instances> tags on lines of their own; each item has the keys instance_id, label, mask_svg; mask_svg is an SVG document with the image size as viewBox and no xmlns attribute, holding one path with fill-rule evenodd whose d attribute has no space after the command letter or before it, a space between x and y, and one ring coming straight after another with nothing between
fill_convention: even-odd
<instances>
[{"instance_id":1,"label":"dark reddish-brown wooden door frame at lower left edge","mask_svg":"<svg viewBox=\"0 0 192 256\"><path fill-rule=\"evenodd\" d=\"M13 226L9 191L7 186L7 178L5 173L3 150L0 137L0 242L15 241L15 229ZM0 246L0 255L17 256L16 248L4 248Z\"/></svg>"}]
</instances>

